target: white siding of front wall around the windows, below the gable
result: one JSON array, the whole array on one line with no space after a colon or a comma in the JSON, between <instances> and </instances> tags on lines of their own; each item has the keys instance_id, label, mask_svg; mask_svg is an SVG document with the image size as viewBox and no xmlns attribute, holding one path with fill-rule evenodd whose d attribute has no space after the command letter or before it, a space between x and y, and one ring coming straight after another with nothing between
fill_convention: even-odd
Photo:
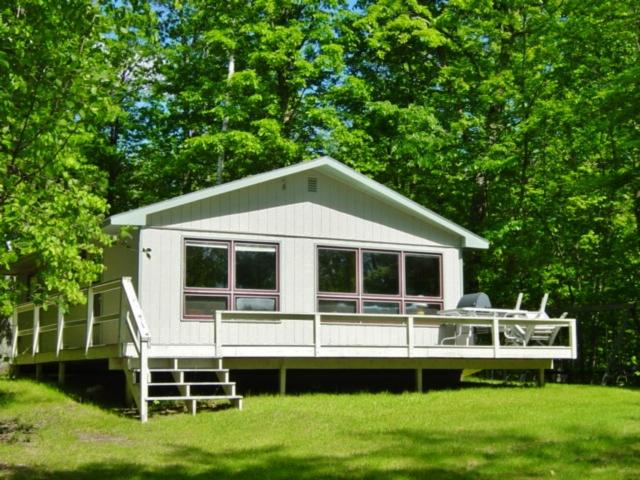
<instances>
[{"instance_id":1,"label":"white siding of front wall around the windows, below the gable","mask_svg":"<svg viewBox=\"0 0 640 480\"><path fill-rule=\"evenodd\" d=\"M320 245L334 245L362 248L387 248L391 250L410 250L442 255L443 302L445 308L453 308L458 302L462 290L460 280L460 257L453 248L401 246L372 242L333 241L314 238L274 238L259 235L228 233L206 233L199 231L180 231L168 229L145 229L141 233L141 249L150 249L149 254L140 257L140 298L149 323L152 343L159 345L206 345L213 339L213 323L182 319L182 262L184 238L208 238L218 240L249 240L277 242L280 252L280 310L292 313L313 313L316 305L316 249ZM293 324L292 324L293 325ZM298 325L298 324L296 324ZM225 327L225 336L237 335L242 325ZM337 337L342 338L344 330L349 337L350 329L336 326ZM340 330L340 332L338 332ZM375 332L374 332L375 330ZM402 328L389 327L374 329L371 334L389 335L395 338L402 335ZM384 330L384 332L383 332ZM256 331L257 332L257 331ZM259 337L258 333L256 333ZM298 335L292 332L291 335ZM307 333L299 333L306 337ZM336 338L336 337L333 337ZM362 339L369 342L371 338ZM383 339L379 339L383 342ZM256 342L261 342L256 338ZM274 341L285 341L274 339ZM289 340L286 340L289 341ZM355 341L355 340L354 340ZM387 340L384 340L387 341ZM400 341L400 337L398 337Z\"/></svg>"}]
</instances>

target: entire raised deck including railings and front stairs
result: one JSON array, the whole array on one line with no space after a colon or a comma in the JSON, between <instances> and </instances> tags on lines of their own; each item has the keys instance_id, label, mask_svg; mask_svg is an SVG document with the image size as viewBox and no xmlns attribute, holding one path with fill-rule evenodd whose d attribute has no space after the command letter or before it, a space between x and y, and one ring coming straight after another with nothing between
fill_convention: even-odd
<instances>
[{"instance_id":1,"label":"entire raised deck including railings and front stairs","mask_svg":"<svg viewBox=\"0 0 640 480\"><path fill-rule=\"evenodd\" d=\"M349 362L385 359L464 361L464 368L492 368L492 362L496 368L508 362L523 368L530 362L536 365L531 368L548 368L553 359L577 356L574 319L499 316L218 311L206 321L213 327L210 338L200 338L198 345L154 345L129 277L93 285L85 294L86 305L68 311L55 301L47 308L20 305L11 322L12 362L60 362L63 376L65 361L109 359L111 368L124 371L142 421L148 402L156 400L184 400L194 413L203 400L226 400L241 408L242 397L229 381L223 358L235 365L255 359L250 368L288 360L312 368L314 361L317 368L343 362L349 368ZM507 332L516 325L555 333L550 344L509 342ZM556 335L559 331L564 333ZM428 368L426 363L416 366Z\"/></svg>"}]
</instances>

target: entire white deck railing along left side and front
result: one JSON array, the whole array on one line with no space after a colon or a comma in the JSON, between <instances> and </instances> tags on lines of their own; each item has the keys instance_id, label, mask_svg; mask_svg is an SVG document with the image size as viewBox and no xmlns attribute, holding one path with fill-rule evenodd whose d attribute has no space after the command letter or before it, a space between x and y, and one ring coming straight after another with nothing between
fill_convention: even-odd
<instances>
[{"instance_id":1,"label":"entire white deck railing along left side and front","mask_svg":"<svg viewBox=\"0 0 640 480\"><path fill-rule=\"evenodd\" d=\"M66 350L90 357L98 347L117 345L118 356L140 359L145 382L150 335L131 279L93 285L85 294L85 306L67 311L55 300L47 309L20 305L13 315L13 356L46 353L39 361L56 361ZM576 321L565 318L218 311L212 327L206 341L217 356L577 356Z\"/></svg>"}]
</instances>

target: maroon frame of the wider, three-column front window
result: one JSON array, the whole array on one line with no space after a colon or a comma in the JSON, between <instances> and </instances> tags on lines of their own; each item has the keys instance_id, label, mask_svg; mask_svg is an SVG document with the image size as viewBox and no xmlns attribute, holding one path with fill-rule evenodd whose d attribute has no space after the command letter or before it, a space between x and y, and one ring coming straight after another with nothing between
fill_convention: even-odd
<instances>
[{"instance_id":1,"label":"maroon frame of the wider, three-column front window","mask_svg":"<svg viewBox=\"0 0 640 480\"><path fill-rule=\"evenodd\" d=\"M320 291L320 250L348 250L356 253L356 291L355 293L345 292L323 292ZM398 293L397 294L368 294L364 293L364 253L385 253L395 254L398 257ZM438 276L439 276L439 295L427 296L427 295L407 295L406 291L406 272L405 261L407 256L429 256L435 257L438 260ZM444 272L442 271L443 255L442 253L434 252L417 252L414 250L389 250L369 247L344 247L344 246L331 246L331 245L316 245L316 257L315 257L315 284L316 284L316 298L315 305L316 311L320 311L321 300L351 300L356 303L356 313L365 314L365 303L368 302L384 302L395 303L398 305L398 315L408 315L406 313L406 306L408 303L426 303L429 306L433 305L436 308L442 309L444 305ZM366 315L376 315L368 313ZM393 314L383 314L393 315ZM419 315L419 314L416 314Z\"/></svg>"}]
</instances>

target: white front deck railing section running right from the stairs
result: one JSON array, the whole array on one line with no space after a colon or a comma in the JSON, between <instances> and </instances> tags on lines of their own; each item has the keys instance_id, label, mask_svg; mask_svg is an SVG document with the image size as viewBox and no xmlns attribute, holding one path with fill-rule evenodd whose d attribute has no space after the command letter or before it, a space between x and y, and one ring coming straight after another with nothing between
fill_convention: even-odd
<instances>
[{"instance_id":1,"label":"white front deck railing section running right from the stairs","mask_svg":"<svg viewBox=\"0 0 640 480\"><path fill-rule=\"evenodd\" d=\"M566 318L221 311L214 331L219 356L577 357Z\"/></svg>"}]
</instances>

